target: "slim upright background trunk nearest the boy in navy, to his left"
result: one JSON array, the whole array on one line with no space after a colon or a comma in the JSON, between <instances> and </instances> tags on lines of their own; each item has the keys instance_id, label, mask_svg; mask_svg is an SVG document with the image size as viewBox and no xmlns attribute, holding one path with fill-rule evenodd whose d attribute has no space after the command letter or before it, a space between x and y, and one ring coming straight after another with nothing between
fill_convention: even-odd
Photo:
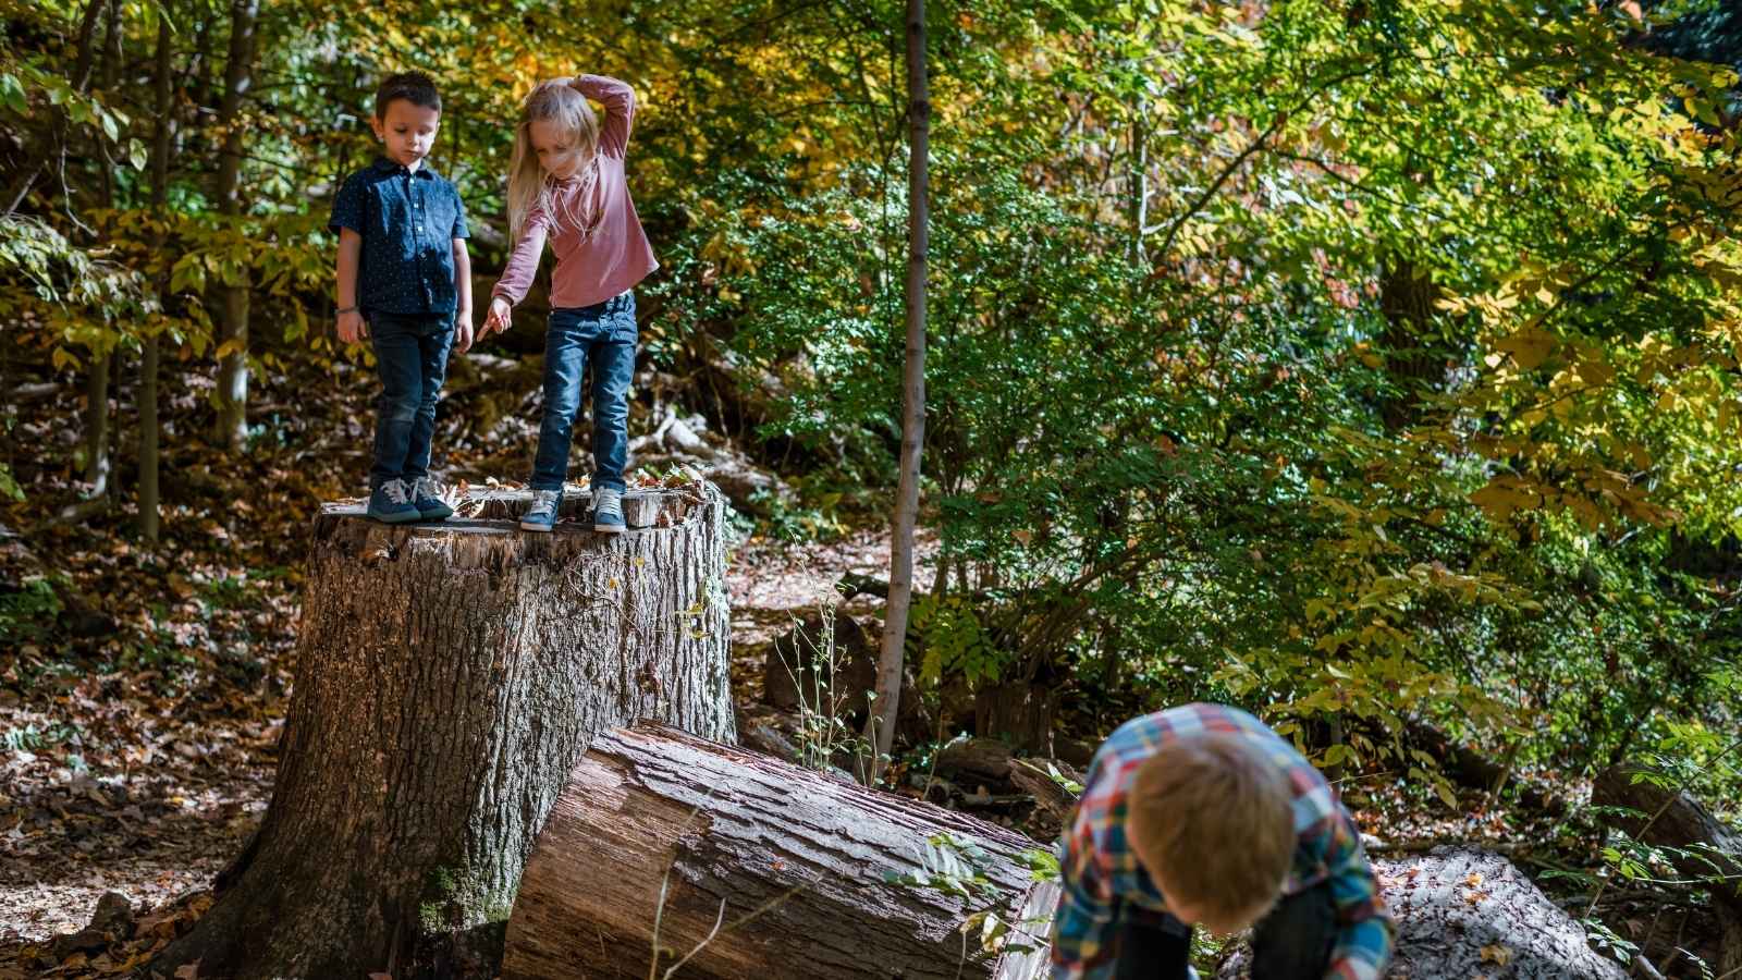
<instances>
[{"instance_id":1,"label":"slim upright background trunk nearest the boy in navy, to his left","mask_svg":"<svg viewBox=\"0 0 1742 980\"><path fill-rule=\"evenodd\" d=\"M237 187L242 176L242 98L247 94L254 70L254 28L260 0L230 2L230 58L225 63L223 105L218 108L218 127L223 129L223 153L218 157L214 195L218 213L232 230L240 227L242 201ZM237 450L247 438L247 265L242 265L240 282L218 286L218 427L216 441Z\"/></svg>"}]
</instances>

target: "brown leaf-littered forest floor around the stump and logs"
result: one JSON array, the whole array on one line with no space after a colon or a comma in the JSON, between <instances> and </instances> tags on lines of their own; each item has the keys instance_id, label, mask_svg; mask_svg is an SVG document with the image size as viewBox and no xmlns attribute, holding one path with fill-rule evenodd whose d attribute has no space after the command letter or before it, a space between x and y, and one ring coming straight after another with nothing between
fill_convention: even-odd
<instances>
[{"instance_id":1,"label":"brown leaf-littered forest floor around the stump and logs","mask_svg":"<svg viewBox=\"0 0 1742 980\"><path fill-rule=\"evenodd\" d=\"M164 541L155 546L132 532L127 495L94 518L52 520L82 488L70 462L71 385L45 401L0 405L0 460L26 495L0 500L0 980L45 975L42 959L26 970L21 956L84 928L110 891L141 915L139 935L172 931L167 919L202 910L188 896L211 886L265 813L310 516L321 500L355 493L366 467L366 385L350 378L338 387L343 394L301 398L331 391L333 380L261 385L258 436L240 459L192 436L202 392L171 396ZM455 432L453 476L476 480L530 459L528 425L498 429L493 438ZM118 478L131 485L125 471ZM843 574L887 570L887 532L874 514L861 523L834 525L826 541L744 528L728 570L740 708L760 699L773 636L833 602ZM935 542L922 534L918 551L916 579L925 582ZM861 596L840 609L876 619L880 605ZM1540 881L1570 909L1589 893L1601 865L1594 839L1489 806L1479 792L1451 807L1385 776L1345 786L1362 830L1383 849L1500 844L1538 875L1564 874ZM1563 781L1557 792L1580 799L1585 786ZM1679 945L1707 945L1709 926L1698 915L1688 926L1685 903L1611 888L1599 912L1618 938L1639 938L1658 931L1665 910L1679 915ZM61 952L47 975L105 977L129 966L106 952Z\"/></svg>"}]
</instances>

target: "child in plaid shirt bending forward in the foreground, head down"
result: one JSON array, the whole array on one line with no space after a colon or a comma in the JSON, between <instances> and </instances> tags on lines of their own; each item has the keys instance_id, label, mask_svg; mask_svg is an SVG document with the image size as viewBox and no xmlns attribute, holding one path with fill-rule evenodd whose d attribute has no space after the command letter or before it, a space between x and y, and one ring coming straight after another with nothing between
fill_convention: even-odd
<instances>
[{"instance_id":1,"label":"child in plaid shirt bending forward in the foreground, head down","mask_svg":"<svg viewBox=\"0 0 1742 980\"><path fill-rule=\"evenodd\" d=\"M1374 980L1392 922L1348 811L1294 746L1225 704L1125 722L1064 832L1054 980L1185 980L1192 928L1256 922L1254 980Z\"/></svg>"}]
</instances>

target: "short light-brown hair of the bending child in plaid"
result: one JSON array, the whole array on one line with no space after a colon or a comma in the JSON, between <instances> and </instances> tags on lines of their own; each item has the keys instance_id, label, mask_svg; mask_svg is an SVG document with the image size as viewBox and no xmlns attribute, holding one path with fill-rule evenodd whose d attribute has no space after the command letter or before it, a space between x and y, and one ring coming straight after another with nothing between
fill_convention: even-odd
<instances>
[{"instance_id":1,"label":"short light-brown hair of the bending child in plaid","mask_svg":"<svg viewBox=\"0 0 1742 980\"><path fill-rule=\"evenodd\" d=\"M1165 898L1223 921L1263 912L1294 858L1294 793L1261 743L1183 736L1138 766L1127 832Z\"/></svg>"}]
</instances>

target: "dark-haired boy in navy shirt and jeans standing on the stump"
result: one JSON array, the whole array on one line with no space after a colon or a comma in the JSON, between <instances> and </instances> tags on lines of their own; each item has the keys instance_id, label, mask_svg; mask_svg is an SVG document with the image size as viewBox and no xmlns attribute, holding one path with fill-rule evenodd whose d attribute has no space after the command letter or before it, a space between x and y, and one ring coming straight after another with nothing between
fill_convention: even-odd
<instances>
[{"instance_id":1,"label":"dark-haired boy in navy shirt and jeans standing on the stump","mask_svg":"<svg viewBox=\"0 0 1742 980\"><path fill-rule=\"evenodd\" d=\"M338 338L369 340L381 375L369 516L444 520L453 507L429 464L448 352L472 345L465 206L453 183L423 164L441 126L441 94L429 75L381 82L371 126L381 157L340 187L327 223L338 234Z\"/></svg>"}]
</instances>

